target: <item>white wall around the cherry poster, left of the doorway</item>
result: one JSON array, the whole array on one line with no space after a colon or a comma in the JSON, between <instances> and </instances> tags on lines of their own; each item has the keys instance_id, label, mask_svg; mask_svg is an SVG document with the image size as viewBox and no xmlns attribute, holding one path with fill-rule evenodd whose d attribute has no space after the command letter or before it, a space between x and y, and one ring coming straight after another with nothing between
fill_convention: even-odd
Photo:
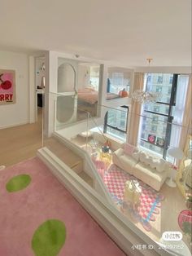
<instances>
[{"instance_id":1,"label":"white wall around the cherry poster, left of the doorway","mask_svg":"<svg viewBox=\"0 0 192 256\"><path fill-rule=\"evenodd\" d=\"M16 102L0 106L0 128L28 123L28 55L0 51L0 69L15 70Z\"/></svg>"}]
</instances>

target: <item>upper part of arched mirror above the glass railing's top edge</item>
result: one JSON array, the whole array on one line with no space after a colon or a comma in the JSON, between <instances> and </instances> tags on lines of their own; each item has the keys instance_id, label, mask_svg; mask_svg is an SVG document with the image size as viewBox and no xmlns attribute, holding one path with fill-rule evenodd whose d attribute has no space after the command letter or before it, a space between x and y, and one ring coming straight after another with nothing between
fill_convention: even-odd
<instances>
[{"instance_id":1,"label":"upper part of arched mirror above the glass railing's top edge","mask_svg":"<svg viewBox=\"0 0 192 256\"><path fill-rule=\"evenodd\" d=\"M76 71L72 64L63 63L58 68L58 92L76 89Z\"/></svg>"}]
</instances>

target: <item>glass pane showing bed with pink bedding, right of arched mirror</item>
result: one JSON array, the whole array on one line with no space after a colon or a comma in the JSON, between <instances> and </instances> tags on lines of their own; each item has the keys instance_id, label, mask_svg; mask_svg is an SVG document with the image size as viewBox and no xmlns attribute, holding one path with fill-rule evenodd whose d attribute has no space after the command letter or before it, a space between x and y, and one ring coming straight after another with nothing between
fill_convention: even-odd
<instances>
[{"instance_id":1,"label":"glass pane showing bed with pink bedding, right of arched mirror","mask_svg":"<svg viewBox=\"0 0 192 256\"><path fill-rule=\"evenodd\" d=\"M77 121L86 119L87 113L97 116L99 70L98 64L78 64Z\"/></svg>"}]
</instances>

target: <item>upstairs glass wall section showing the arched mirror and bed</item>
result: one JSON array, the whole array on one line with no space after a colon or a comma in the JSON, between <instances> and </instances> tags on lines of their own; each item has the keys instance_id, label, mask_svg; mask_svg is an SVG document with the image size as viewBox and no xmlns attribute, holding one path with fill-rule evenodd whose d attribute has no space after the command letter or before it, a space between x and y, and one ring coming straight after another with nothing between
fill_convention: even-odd
<instances>
[{"instance_id":1,"label":"upstairs glass wall section showing the arched mirror and bed","mask_svg":"<svg viewBox=\"0 0 192 256\"><path fill-rule=\"evenodd\" d=\"M58 58L56 119L68 124L98 116L100 64ZM70 111L69 111L70 109Z\"/></svg>"}]
</instances>

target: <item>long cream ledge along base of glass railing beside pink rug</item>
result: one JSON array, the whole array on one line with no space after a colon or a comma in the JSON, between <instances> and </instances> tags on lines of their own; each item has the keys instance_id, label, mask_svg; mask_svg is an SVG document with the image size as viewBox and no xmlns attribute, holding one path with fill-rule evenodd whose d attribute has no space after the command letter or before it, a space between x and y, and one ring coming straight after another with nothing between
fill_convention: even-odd
<instances>
[{"instance_id":1,"label":"long cream ledge along base of glass railing beside pink rug","mask_svg":"<svg viewBox=\"0 0 192 256\"><path fill-rule=\"evenodd\" d=\"M60 161L47 148L41 148L37 156L49 167L52 174L76 198L86 211L95 219L117 245L127 255L168 255L163 249L158 252L158 246L149 236L140 231L132 222L120 214L102 196L90 188L76 173ZM153 245L155 249L131 249L132 245Z\"/></svg>"}]
</instances>

